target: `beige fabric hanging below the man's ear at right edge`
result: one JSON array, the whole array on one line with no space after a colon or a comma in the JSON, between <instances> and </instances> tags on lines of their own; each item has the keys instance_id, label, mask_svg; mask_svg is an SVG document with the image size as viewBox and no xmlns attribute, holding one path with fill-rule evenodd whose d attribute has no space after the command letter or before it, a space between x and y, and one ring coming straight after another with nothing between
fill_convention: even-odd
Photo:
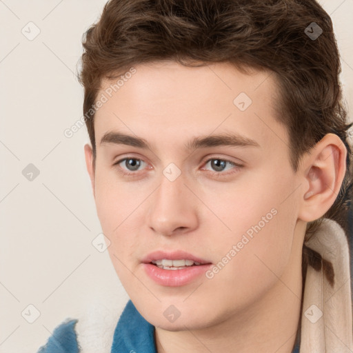
<instances>
[{"instance_id":1,"label":"beige fabric hanging below the man's ear at right edge","mask_svg":"<svg viewBox=\"0 0 353 353\"><path fill-rule=\"evenodd\" d=\"M300 353L352 353L350 254L345 232L325 219L305 243L334 268L334 286L321 271L307 268L301 318Z\"/></svg>"}]
</instances>

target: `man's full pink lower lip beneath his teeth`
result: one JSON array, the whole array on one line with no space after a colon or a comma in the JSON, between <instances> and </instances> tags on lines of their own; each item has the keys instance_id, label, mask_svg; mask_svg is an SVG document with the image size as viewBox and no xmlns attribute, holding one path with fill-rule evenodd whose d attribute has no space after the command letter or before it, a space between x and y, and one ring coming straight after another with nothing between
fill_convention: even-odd
<instances>
[{"instance_id":1,"label":"man's full pink lower lip beneath his teeth","mask_svg":"<svg viewBox=\"0 0 353 353\"><path fill-rule=\"evenodd\" d=\"M143 263L145 272L151 279L159 285L166 285L168 287L179 287L194 281L197 277L205 274L211 265L212 263L208 263L182 268L181 270L163 270L163 268L152 265L152 263Z\"/></svg>"}]
</instances>

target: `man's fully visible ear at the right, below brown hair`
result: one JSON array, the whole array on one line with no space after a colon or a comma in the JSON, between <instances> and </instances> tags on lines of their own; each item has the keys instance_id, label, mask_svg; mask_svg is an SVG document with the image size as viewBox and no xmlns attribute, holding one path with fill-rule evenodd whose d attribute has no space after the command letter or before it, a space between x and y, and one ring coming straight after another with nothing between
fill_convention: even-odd
<instances>
[{"instance_id":1,"label":"man's fully visible ear at the right, below brown hair","mask_svg":"<svg viewBox=\"0 0 353 353\"><path fill-rule=\"evenodd\" d=\"M326 134L301 161L304 188L299 219L311 222L330 209L345 176L347 149L336 134Z\"/></svg>"}]
</instances>

